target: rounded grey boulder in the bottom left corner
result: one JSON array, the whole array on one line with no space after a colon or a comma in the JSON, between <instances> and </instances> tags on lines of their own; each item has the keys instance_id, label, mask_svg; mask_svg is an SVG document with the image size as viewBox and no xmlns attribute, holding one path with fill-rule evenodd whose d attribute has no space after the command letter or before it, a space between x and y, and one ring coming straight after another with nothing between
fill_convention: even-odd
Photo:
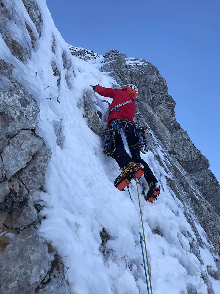
<instances>
[{"instance_id":1,"label":"rounded grey boulder in the bottom left corner","mask_svg":"<svg viewBox=\"0 0 220 294\"><path fill-rule=\"evenodd\" d=\"M23 230L9 240L1 253L0 292L34 294L50 269L49 260L48 246L37 231Z\"/></svg>"}]
</instances>

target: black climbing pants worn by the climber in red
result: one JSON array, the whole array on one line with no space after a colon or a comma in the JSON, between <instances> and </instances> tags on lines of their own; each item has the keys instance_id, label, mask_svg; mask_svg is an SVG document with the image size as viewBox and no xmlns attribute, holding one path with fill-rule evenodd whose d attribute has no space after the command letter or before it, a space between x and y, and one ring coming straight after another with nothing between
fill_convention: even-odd
<instances>
[{"instance_id":1,"label":"black climbing pants worn by the climber in red","mask_svg":"<svg viewBox=\"0 0 220 294\"><path fill-rule=\"evenodd\" d=\"M115 142L114 142L115 148L114 148L114 153L111 155L111 157L115 159L115 161L118 163L120 168L123 168L126 164L128 164L131 161L134 161L136 163L141 163L144 169L144 177L148 185L151 182L156 183L157 179L155 178L153 172L149 168L148 164L141 158L141 152L139 151L139 148L138 148L138 135L136 132L135 124L123 119L119 119L119 121L121 123L121 127L123 128L123 131L127 138L127 142L128 142L129 149L131 151L132 158L125 151L124 144L123 144L121 134L119 133L119 131L115 132ZM111 131L111 133L112 132L113 131ZM114 146L112 144L111 148L113 147Z\"/></svg>"}]
</instances>

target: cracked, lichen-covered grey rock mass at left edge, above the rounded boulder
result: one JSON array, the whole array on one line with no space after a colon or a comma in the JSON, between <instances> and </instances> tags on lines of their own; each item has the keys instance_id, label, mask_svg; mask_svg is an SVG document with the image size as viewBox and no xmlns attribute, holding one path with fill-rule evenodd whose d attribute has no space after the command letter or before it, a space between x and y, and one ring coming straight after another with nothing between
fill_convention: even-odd
<instances>
[{"instance_id":1,"label":"cracked, lichen-covered grey rock mass at left edge, above the rounded boulder","mask_svg":"<svg viewBox=\"0 0 220 294\"><path fill-rule=\"evenodd\" d=\"M30 193L44 184L51 156L43 140L33 133L39 113L37 103L13 78L13 68L12 64L0 60L0 181L4 180L0 209L6 211L25 205Z\"/></svg>"}]
</instances>

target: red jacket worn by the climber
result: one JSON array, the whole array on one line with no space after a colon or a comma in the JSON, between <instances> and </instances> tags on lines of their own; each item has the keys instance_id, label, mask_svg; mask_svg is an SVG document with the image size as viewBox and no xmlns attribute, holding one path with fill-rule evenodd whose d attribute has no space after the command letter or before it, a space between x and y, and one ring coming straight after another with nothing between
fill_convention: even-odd
<instances>
[{"instance_id":1,"label":"red jacket worn by the climber","mask_svg":"<svg viewBox=\"0 0 220 294\"><path fill-rule=\"evenodd\" d=\"M95 91L101 96L113 98L113 101L111 103L111 109L123 102L130 101L130 100L134 101L134 96L130 92L128 92L126 89L119 90L119 89L112 89L112 88L104 88L97 85L95 87ZM134 102L127 103L125 105L120 106L119 111L116 111L115 109L113 109L108 118L108 126L111 120L113 120L114 118L127 119L128 121L131 121L133 123L135 113L136 113L136 104Z\"/></svg>"}]
</instances>

